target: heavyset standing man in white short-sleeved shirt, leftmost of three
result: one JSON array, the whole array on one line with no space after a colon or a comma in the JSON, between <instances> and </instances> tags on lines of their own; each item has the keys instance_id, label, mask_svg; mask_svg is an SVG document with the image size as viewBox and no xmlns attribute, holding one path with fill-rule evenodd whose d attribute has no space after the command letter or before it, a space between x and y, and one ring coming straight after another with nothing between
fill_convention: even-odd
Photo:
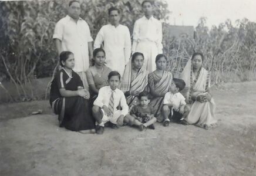
<instances>
[{"instance_id":1,"label":"heavyset standing man in white short-sleeved shirt, leftmost of three","mask_svg":"<svg viewBox=\"0 0 256 176\"><path fill-rule=\"evenodd\" d=\"M89 68L89 59L92 59L92 37L86 21L80 18L80 2L70 1L68 15L56 23L53 39L58 54L63 50L74 53L75 70L81 77L83 86L88 87L86 70Z\"/></svg>"}]
</instances>

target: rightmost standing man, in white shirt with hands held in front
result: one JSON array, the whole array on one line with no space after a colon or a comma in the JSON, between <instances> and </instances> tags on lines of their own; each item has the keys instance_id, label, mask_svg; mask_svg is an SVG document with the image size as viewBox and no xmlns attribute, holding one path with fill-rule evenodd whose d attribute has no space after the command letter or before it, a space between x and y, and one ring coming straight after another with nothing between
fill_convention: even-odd
<instances>
[{"instance_id":1,"label":"rightmost standing man, in white shirt with hands held in front","mask_svg":"<svg viewBox=\"0 0 256 176\"><path fill-rule=\"evenodd\" d=\"M163 53L162 25L153 17L153 2L142 2L144 16L134 23L132 53L141 52L144 55L143 68L149 72L156 69L155 59Z\"/></svg>"}]
</instances>

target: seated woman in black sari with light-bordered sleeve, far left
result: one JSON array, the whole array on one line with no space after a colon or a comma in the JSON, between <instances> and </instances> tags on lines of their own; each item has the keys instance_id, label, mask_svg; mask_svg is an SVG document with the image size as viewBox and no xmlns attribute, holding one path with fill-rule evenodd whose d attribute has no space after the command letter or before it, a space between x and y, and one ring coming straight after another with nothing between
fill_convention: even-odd
<instances>
[{"instance_id":1,"label":"seated woman in black sari with light-bordered sleeve, far left","mask_svg":"<svg viewBox=\"0 0 256 176\"><path fill-rule=\"evenodd\" d=\"M95 120L87 101L90 94L83 89L82 80L72 70L75 66L74 55L63 51L59 58L62 69L56 73L50 86L50 106L59 115L59 126L71 131L92 130Z\"/></svg>"}]
</instances>

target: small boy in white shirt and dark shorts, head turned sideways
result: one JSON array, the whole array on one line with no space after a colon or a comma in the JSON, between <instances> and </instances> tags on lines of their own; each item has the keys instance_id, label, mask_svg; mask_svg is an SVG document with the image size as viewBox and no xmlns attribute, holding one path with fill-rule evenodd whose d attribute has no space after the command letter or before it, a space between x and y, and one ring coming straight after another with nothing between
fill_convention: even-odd
<instances>
[{"instance_id":1,"label":"small boy in white shirt and dark shorts, head turned sideways","mask_svg":"<svg viewBox=\"0 0 256 176\"><path fill-rule=\"evenodd\" d=\"M189 113L189 107L186 105L185 97L180 93L184 89L186 83L182 79L173 79L169 92L164 96L163 101L163 126L169 126L170 119L173 122L180 122Z\"/></svg>"}]
</instances>

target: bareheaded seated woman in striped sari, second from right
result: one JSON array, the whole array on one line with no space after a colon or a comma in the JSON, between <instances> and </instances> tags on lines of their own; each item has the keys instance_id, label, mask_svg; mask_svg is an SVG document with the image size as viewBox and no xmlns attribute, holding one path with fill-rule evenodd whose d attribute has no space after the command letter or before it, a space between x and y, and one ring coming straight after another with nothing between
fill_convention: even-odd
<instances>
[{"instance_id":1,"label":"bareheaded seated woman in striped sari, second from right","mask_svg":"<svg viewBox=\"0 0 256 176\"><path fill-rule=\"evenodd\" d=\"M149 73L149 91L152 96L150 100L151 106L154 108L154 117L157 121L162 122L164 117L161 116L164 95L168 92L173 75L166 69L167 57L159 54L156 56L156 70Z\"/></svg>"}]
</instances>

